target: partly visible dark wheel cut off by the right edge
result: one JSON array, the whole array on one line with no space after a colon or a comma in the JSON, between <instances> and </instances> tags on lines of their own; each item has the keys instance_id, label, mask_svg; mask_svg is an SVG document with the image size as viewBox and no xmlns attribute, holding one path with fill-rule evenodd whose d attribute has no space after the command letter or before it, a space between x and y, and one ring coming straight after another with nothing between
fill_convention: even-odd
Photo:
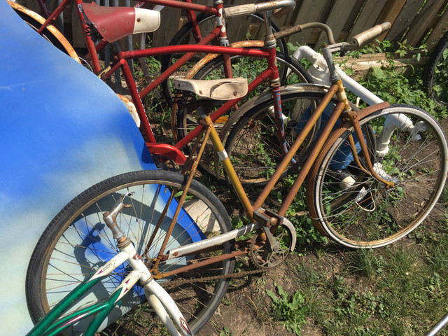
<instances>
[{"instance_id":1,"label":"partly visible dark wheel cut off by the right edge","mask_svg":"<svg viewBox=\"0 0 448 336\"><path fill-rule=\"evenodd\" d=\"M424 77L430 97L442 106L448 106L448 33L435 46Z\"/></svg>"}]
</instances>

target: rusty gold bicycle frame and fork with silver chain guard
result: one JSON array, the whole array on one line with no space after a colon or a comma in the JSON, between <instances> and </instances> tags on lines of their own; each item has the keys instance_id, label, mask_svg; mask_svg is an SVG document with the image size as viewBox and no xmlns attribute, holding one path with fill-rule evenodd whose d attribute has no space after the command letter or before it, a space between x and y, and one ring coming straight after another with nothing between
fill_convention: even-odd
<instances>
[{"instance_id":1,"label":"rusty gold bicycle frame and fork with silver chain guard","mask_svg":"<svg viewBox=\"0 0 448 336\"><path fill-rule=\"evenodd\" d=\"M325 55L325 54L324 54ZM330 54L331 57L331 54ZM332 62L332 61L331 61ZM330 66L329 66L330 67ZM330 68L331 69L331 68ZM334 69L334 65L333 65ZM331 70L330 70L331 71ZM267 196L269 195L270 191L274 187L274 185L279 181L281 174L286 169L287 165L290 163L290 161L293 159L293 156L295 153L299 150L300 146L302 145L304 139L307 138L307 135L311 130L313 129L314 125L318 121L318 118L322 115L323 111L325 110L325 107L330 104L330 101L333 99L333 97L337 97L337 104L335 108L332 111L332 114L326 123L325 127L323 128L323 131L319 135L316 144L314 145L314 148L312 148L311 153L309 153L307 160L304 162L304 165L302 166L302 169L300 170L300 173L298 174L297 178L295 179L295 182L293 183L293 186L290 188L288 195L284 198L281 208L276 214L273 214L272 212L267 212L264 209L262 209L262 204L265 202ZM275 94L274 94L275 97ZM344 87L342 85L342 80L340 78L335 78L332 80L332 85L329 87L328 92L326 92L325 96L321 100L321 102L318 104L316 109L311 113L311 118L308 120L307 124L304 125L304 128L300 132L300 134L297 136L293 144L290 146L288 153L286 153L285 157L279 164L279 166L276 168L276 171L269 179L267 185L262 190L260 195L258 196L258 199L255 201L254 204L251 204L251 202L248 200L248 196L246 195L246 192L244 191L243 186L241 185L241 182L239 181L239 178L237 174L235 173L235 169L232 165L232 162L230 162L230 158L228 158L227 153L225 153L223 142L221 141L218 132L216 131L214 127L213 120L210 118L210 116L207 116L206 113L204 113L202 107L197 109L197 112L201 116L200 125L202 125L202 134L201 137L197 138L197 141L193 147L192 154L190 154L190 158L188 159L189 165L185 165L183 167L183 174L186 174L188 171L187 167L190 167L190 176L188 176L188 181L186 182L185 189L183 190L183 194L181 195L181 198L179 200L178 207L176 209L176 212L173 216L172 222L170 223L167 235L165 237L165 241L162 244L162 248L160 249L160 253L155 260L153 267L151 269L152 274L155 276L156 279L161 279L167 276L171 276L173 274L178 274L181 272L186 272L190 269L194 269L197 267L202 267L205 265L210 265L214 262L219 262L221 260L229 259L229 258L235 258L237 255L244 255L248 253L248 241L237 241L237 248L235 251L232 251L231 253L227 253L224 255L219 255L214 258L210 258L208 260L202 260L200 262L196 262L193 265L187 265L185 267L181 267L179 269L176 269L175 271L169 272L169 273L160 273L158 272L158 265L161 261L167 260L169 258L176 258L181 257L193 253L201 253L202 251L211 251L213 249L220 248L220 244L222 244L223 241L229 241L230 239L234 239L235 237L240 237L243 234L246 234L248 232L252 232L254 230L258 229L264 229L269 230L269 232L273 233L275 232L278 225L281 225L281 222L285 219L284 216L286 215L286 211L290 204L293 202L293 199L295 195L297 194L297 191L299 190L300 186L302 186L302 183L304 182L305 177L309 173L314 161L318 157L318 154L320 153L321 149L323 148L323 145L325 144L325 141L329 139L330 133L332 129L335 127L335 124L337 120L340 118L343 122L346 122L345 125L351 125L354 127L356 137L358 139L364 139L363 137L363 131L361 130L360 124L358 120L360 118L363 118L364 116L367 116L370 113L373 113L374 111L379 111L380 109L384 109L385 107L389 106L388 103L381 103L376 104L368 107L367 109L363 109L360 112L352 111L351 107L349 105L349 102L346 98L346 94L344 91ZM274 104L274 109L276 111L275 116L278 118L278 112L281 111L281 102L279 101L279 97L277 99L277 104ZM199 148L199 151L197 153L197 156L195 160L192 159L193 153L197 150L197 147L200 144L200 140L202 138L202 145ZM207 140L210 139L212 144L214 145L214 149L216 153L218 153L219 157L222 160L223 167L225 171L227 172L228 176L230 177L230 181L232 183L233 188L235 189L235 193L237 193L237 196L239 197L239 200L244 207L244 211L248 218L251 220L251 224L246 225L243 228L239 228L237 230L233 230L232 232L228 232L221 236L228 236L229 238L221 239L221 236L213 237L209 239L205 239L204 241L200 241L193 244L188 244L186 246L182 246L180 248L175 248L174 251L169 251L168 254L163 254L163 251L165 251L165 247L167 246L167 241L169 239L170 232L174 229L174 225L176 224L177 216L179 214L179 211L181 210L183 200L185 199L186 193L188 191L188 188L190 186L191 181L193 180L193 176L195 174L197 165L199 164L201 155L204 151L204 148L207 144ZM374 168L372 166L372 161L370 160L370 155L368 154L367 145L371 146L372 144L369 144L370 139L366 139L366 141L359 141L360 144L360 153L363 154L363 158L365 158L365 167L360 162L360 159L358 157L358 152L356 151L356 145L355 140L353 139L353 136L350 135L348 138L349 141L349 148L351 150L351 153L353 155L353 160L356 162L356 165L365 172L365 174L369 174L373 176L378 181L381 181L381 183L384 183L385 188L391 188L393 187L393 182L386 181L382 179L377 172L374 171ZM174 193L177 193L178 190L174 190L172 193L172 197ZM168 202L169 203L169 202ZM168 207L168 204L167 204ZM165 208L165 211L167 211L167 207ZM163 217L163 216L162 216ZM161 217L161 218L162 218ZM161 220L160 220L161 221ZM160 223L156 225L155 231L158 230L160 227ZM267 234L269 235L269 232ZM155 232L153 233L155 235ZM269 241L269 237L265 237L260 241L259 244L267 244L267 241ZM151 240L150 240L151 244ZM197 246L197 248L193 247Z\"/></svg>"}]
</instances>

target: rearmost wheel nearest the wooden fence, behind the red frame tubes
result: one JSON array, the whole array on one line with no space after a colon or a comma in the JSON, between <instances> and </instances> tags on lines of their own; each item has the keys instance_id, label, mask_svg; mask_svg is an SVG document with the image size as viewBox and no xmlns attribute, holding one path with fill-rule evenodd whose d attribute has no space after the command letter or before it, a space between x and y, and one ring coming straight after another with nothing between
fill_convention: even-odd
<instances>
[{"instance_id":1,"label":"rearmost wheel nearest the wooden fence, behind the red frame tubes","mask_svg":"<svg viewBox=\"0 0 448 336\"><path fill-rule=\"evenodd\" d=\"M228 34L228 39L230 42L244 40L250 34L251 39L254 40L264 40L265 38L265 29L264 29L264 20L262 15L255 13L251 15L246 15L244 17L239 18L230 18L226 20L225 27ZM210 31L212 31L216 27L216 20L214 15L210 15L207 13L200 13L197 15L197 25L201 31L201 36L207 36ZM273 31L280 31L279 27L272 24ZM172 40L169 42L169 45L181 45L181 44L196 44L195 38L192 34L193 24L191 22L187 22L179 31L174 35ZM215 41L214 43L218 43ZM288 45L284 38L280 38L277 41L278 50L280 52L288 54ZM171 66L176 59L179 59L182 55L180 54L171 54L171 55L163 55L161 59L161 72L167 70L169 66ZM190 69L194 64L197 63L199 59L204 57L205 54L198 53L193 59L181 67L176 73L173 73L172 78L175 76L182 76L182 74L187 73L188 69ZM182 76L183 77L183 76ZM234 75L234 77L236 77ZM172 99L172 80L165 80L162 83L162 90L165 96L165 99L170 104L173 103Z\"/></svg>"}]
</instances>

